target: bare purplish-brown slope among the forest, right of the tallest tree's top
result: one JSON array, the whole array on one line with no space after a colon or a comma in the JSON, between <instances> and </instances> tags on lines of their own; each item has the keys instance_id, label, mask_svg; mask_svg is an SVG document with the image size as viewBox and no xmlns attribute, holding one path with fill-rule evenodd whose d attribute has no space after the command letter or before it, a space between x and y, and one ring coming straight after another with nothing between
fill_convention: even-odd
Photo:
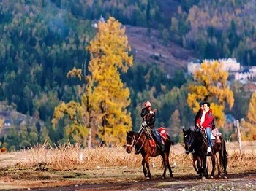
<instances>
[{"instance_id":1,"label":"bare purplish-brown slope among the forest, right of the tallest tree's top","mask_svg":"<svg viewBox=\"0 0 256 191\"><path fill-rule=\"evenodd\" d=\"M157 63L167 74L172 75L175 69L187 70L187 63L195 60L193 52L178 47L172 42L167 45L162 43L158 31L151 29L148 34L147 28L125 26L129 44L134 53L136 63Z\"/></svg>"}]
</instances>

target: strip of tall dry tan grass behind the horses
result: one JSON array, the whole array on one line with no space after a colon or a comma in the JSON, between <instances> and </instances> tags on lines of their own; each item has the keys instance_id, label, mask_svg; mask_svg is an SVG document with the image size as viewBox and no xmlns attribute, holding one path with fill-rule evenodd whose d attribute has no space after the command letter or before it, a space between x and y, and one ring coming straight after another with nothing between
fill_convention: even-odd
<instances>
[{"instance_id":1,"label":"strip of tall dry tan grass behind the horses","mask_svg":"<svg viewBox=\"0 0 256 191\"><path fill-rule=\"evenodd\" d=\"M243 151L240 153L238 143L227 142L228 167L234 172L236 169L238 171L256 169L256 141L244 142L242 145ZM4 161L4 155L0 155L1 161ZM48 145L44 144L31 150L16 152L15 157L19 158L18 162L13 160L12 163L1 163L0 168L40 168L43 166L41 170L49 168L56 171L110 167L134 168L140 167L142 160L141 155L127 154L122 147L81 149L79 144L75 146L67 144L57 148L48 148ZM151 157L150 163L160 166L162 158ZM185 155L184 148L180 144L171 148L170 164L173 163L177 163L181 171L186 168L192 170L192 156Z\"/></svg>"}]
</instances>

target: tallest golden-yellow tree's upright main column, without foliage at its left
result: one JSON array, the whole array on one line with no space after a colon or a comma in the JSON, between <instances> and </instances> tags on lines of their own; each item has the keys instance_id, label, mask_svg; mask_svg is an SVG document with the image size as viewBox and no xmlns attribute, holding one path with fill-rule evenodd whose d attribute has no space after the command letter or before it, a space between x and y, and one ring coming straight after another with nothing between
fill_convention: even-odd
<instances>
[{"instance_id":1,"label":"tallest golden-yellow tree's upright main column, without foliage at its left","mask_svg":"<svg viewBox=\"0 0 256 191\"><path fill-rule=\"evenodd\" d=\"M121 82L120 72L127 72L132 66L131 47L125 28L113 17L106 23L99 22L98 30L87 47L91 59L86 92L91 111L95 114L95 132L107 142L124 143L132 120L127 112L129 89Z\"/></svg>"}]
</instances>

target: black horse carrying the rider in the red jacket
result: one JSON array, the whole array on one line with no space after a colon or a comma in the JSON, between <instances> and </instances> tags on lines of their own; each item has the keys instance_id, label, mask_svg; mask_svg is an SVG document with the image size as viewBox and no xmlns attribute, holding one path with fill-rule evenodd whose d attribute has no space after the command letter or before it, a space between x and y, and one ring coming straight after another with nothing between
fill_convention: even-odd
<instances>
[{"instance_id":1,"label":"black horse carrying the rider in the red jacket","mask_svg":"<svg viewBox=\"0 0 256 191\"><path fill-rule=\"evenodd\" d=\"M208 176L208 170L206 166L206 157L211 157L212 171L211 177L214 177L215 165L217 160L218 176L220 177L220 168L223 168L224 178L227 178L227 151L225 141L221 136L213 139L213 149L211 153L207 153L208 142L206 139L205 131L193 131L183 130L184 133L184 144L187 155L195 150L193 155L193 166L197 173L203 179ZM219 156L217 156L219 154ZM197 165L195 165L195 161Z\"/></svg>"}]
</instances>

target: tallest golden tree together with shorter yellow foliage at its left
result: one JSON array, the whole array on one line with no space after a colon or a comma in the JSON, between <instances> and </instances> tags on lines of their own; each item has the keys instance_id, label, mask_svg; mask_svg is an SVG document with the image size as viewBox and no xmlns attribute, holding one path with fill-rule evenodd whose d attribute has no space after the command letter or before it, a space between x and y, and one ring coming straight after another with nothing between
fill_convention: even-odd
<instances>
[{"instance_id":1,"label":"tallest golden tree together with shorter yellow foliage at its left","mask_svg":"<svg viewBox=\"0 0 256 191\"><path fill-rule=\"evenodd\" d=\"M97 137L111 143L124 143L126 130L131 129L129 89L121 82L120 72L132 66L131 47L125 28L113 17L99 22L98 33L87 50L91 53L89 72L84 77L86 88L78 87L80 101L61 103L53 114L53 127L64 120L68 139L91 147ZM81 69L72 69L67 77L83 79ZM87 143L86 143L87 141Z\"/></svg>"}]
</instances>

